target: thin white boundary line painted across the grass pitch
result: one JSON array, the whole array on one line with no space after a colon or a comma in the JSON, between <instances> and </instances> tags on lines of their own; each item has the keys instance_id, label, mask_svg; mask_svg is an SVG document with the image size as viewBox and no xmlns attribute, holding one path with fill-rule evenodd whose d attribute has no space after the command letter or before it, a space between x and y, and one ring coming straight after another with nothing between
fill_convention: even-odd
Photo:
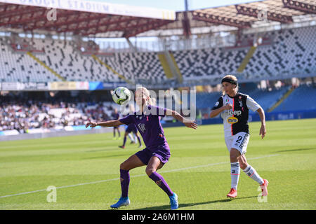
<instances>
[{"instance_id":1,"label":"thin white boundary line painted across the grass pitch","mask_svg":"<svg viewBox=\"0 0 316 224\"><path fill-rule=\"evenodd\" d=\"M258 160L261 158L268 158L268 157L272 157L272 156L278 156L279 154L275 154L275 155L264 155L261 157L256 157L256 158L249 158L247 160ZM171 169L171 170L167 170L167 171L162 171L160 173L170 173L170 172L178 172L178 171L182 171L182 170L186 170L186 169L195 169L195 168L200 168L200 167L211 167L211 166L215 166L215 165L222 165L222 164L228 164L230 162L217 162L217 163L210 163L210 164L206 164L206 165L199 165L196 167L184 167L184 168L180 168L180 169ZM139 176L146 176L147 174L138 174L138 175L134 175L131 177L139 177ZM88 185L88 184L94 184L94 183L103 183L103 182L108 182L108 181L118 181L119 178L115 178L115 179L107 179L107 180L103 180L103 181L93 181L93 182L88 182L88 183L77 183L74 185L69 185L69 186L61 186L61 187L57 187L56 189L62 189L62 188L72 188L72 187L77 187L77 186L84 186L84 185ZM14 195L4 195L4 196L0 196L0 198L4 198L4 197L13 197L13 196L18 196L18 195L28 195L28 194L32 194L32 193L38 193L38 192L43 192L46 191L46 189L44 190L34 190L34 191L28 191L25 193L18 193L18 194L14 194Z\"/></svg>"}]
</instances>

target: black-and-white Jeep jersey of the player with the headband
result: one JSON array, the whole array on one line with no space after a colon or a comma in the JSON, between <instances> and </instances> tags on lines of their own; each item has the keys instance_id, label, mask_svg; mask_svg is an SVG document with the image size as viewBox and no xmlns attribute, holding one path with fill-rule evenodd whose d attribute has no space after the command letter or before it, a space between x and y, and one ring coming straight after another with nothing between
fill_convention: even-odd
<instances>
[{"instance_id":1,"label":"black-and-white Jeep jersey of the player with the headband","mask_svg":"<svg viewBox=\"0 0 316 224\"><path fill-rule=\"evenodd\" d=\"M238 132L249 134L249 109L257 111L261 106L248 95L237 92L235 97L229 97L227 94L221 96L212 110L219 109L226 104L232 104L232 109L220 113L220 117L223 118L225 137Z\"/></svg>"}]
</instances>

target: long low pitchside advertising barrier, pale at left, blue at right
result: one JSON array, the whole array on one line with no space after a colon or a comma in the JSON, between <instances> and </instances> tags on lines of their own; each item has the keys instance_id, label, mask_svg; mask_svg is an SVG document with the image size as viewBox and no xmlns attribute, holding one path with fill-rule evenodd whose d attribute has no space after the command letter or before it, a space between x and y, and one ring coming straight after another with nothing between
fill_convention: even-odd
<instances>
[{"instance_id":1,"label":"long low pitchside advertising barrier, pale at left, blue at right","mask_svg":"<svg viewBox=\"0 0 316 224\"><path fill-rule=\"evenodd\" d=\"M265 113L265 120L292 120L316 118L316 110L312 111L285 111ZM260 121L258 113L249 113L249 122ZM223 123L222 118L199 119L196 121L198 125L213 125ZM180 122L166 122L162 120L162 127L179 127L183 126ZM125 130L125 128L124 128ZM41 139L48 137L65 137L79 134L100 134L112 132L112 127L93 127L86 129L85 125L67 126L63 130L28 130L26 134L19 134L17 130L0 132L0 141L13 141L23 139Z\"/></svg>"}]
</instances>

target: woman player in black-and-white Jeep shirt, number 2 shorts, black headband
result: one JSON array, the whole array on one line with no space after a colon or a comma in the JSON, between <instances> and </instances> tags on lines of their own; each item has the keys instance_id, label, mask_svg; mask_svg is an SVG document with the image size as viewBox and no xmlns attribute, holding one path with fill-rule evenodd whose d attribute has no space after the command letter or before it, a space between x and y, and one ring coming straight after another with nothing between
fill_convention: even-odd
<instances>
[{"instance_id":1,"label":"woman player in black-and-white Jeep shirt, number 2 shorts, black headband","mask_svg":"<svg viewBox=\"0 0 316 224\"><path fill-rule=\"evenodd\" d=\"M259 183L262 195L268 195L268 181L262 179L254 167L247 163L246 148L249 142L249 109L257 111L261 119L259 135L265 137L265 113L254 99L246 94L238 92L237 78L235 76L224 76L221 80L223 95L218 99L211 111L211 118L220 114L223 118L225 144L230 152L230 177L232 179L230 193L227 197L237 197L237 185L239 181L240 168L251 179Z\"/></svg>"}]
</instances>

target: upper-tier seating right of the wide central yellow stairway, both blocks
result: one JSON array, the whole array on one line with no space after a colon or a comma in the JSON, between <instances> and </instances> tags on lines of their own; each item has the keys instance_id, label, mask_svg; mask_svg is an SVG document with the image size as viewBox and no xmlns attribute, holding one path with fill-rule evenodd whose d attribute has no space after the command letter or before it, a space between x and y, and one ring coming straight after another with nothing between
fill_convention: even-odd
<instances>
[{"instance_id":1,"label":"upper-tier seating right of the wide central yellow stairway, both blocks","mask_svg":"<svg viewBox=\"0 0 316 224\"><path fill-rule=\"evenodd\" d=\"M316 45L310 45L315 29L315 27L302 27L265 34L272 36L274 42L272 45L259 45L242 74L246 78L254 79L316 71ZM254 37L254 34L245 35L244 39L251 36ZM238 47L230 50L225 48L183 50L175 51L173 55L183 78L201 78L237 73L246 53L245 48Z\"/></svg>"}]
</instances>

